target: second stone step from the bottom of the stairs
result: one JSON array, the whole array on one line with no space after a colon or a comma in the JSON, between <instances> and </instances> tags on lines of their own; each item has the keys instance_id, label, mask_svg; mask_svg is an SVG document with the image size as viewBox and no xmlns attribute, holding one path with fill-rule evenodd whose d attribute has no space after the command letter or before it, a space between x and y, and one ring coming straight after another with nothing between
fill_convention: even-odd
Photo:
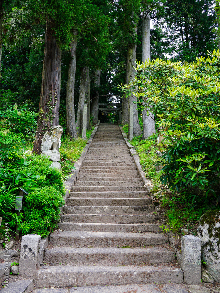
<instances>
[{"instance_id":1,"label":"second stone step from the bottom of the stairs","mask_svg":"<svg viewBox=\"0 0 220 293\"><path fill-rule=\"evenodd\" d=\"M169 263L175 253L166 248L70 248L53 247L45 251L49 265L150 265Z\"/></svg>"}]
</instances>

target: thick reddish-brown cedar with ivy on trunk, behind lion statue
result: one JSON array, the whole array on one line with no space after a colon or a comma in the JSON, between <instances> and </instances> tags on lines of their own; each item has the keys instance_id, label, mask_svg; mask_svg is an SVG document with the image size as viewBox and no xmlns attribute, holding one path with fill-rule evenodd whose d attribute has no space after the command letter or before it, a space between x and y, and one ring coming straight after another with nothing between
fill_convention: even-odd
<instances>
[{"instance_id":1,"label":"thick reddish-brown cedar with ivy on trunk, behind lion statue","mask_svg":"<svg viewBox=\"0 0 220 293\"><path fill-rule=\"evenodd\" d=\"M44 133L59 124L61 49L67 48L72 40L77 15L74 6L66 0L26 1L26 7L34 20L46 24L39 117L33 147L33 152L40 154Z\"/></svg>"}]
</instances>

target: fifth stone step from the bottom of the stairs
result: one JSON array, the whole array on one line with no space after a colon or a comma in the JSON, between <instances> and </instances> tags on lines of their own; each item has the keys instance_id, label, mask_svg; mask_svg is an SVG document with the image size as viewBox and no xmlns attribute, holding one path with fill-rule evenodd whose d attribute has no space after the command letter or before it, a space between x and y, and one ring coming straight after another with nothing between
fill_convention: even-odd
<instances>
[{"instance_id":1,"label":"fifth stone step from the bottom of the stairs","mask_svg":"<svg viewBox=\"0 0 220 293\"><path fill-rule=\"evenodd\" d=\"M103 223L103 224L137 224L149 223L158 220L155 214L148 215L77 215L65 214L60 215L60 222L76 222L76 223Z\"/></svg>"}]
</instances>

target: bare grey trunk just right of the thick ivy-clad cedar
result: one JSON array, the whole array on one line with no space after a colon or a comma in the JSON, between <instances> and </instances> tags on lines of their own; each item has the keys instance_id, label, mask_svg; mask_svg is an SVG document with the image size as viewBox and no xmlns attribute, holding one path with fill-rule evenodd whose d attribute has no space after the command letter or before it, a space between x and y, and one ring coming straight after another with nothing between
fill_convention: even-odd
<instances>
[{"instance_id":1,"label":"bare grey trunk just right of the thick ivy-clad cedar","mask_svg":"<svg viewBox=\"0 0 220 293\"><path fill-rule=\"evenodd\" d=\"M72 43L70 44L71 59L67 79L67 135L69 135L71 138L77 138L74 103L74 88L76 75L76 46L77 31L74 32L74 38L72 40Z\"/></svg>"}]
</instances>

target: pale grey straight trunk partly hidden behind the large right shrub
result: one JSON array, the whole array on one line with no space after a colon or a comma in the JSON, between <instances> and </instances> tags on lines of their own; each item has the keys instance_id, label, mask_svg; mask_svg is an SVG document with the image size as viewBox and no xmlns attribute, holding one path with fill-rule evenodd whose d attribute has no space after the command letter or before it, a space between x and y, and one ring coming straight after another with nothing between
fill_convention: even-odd
<instances>
[{"instance_id":1,"label":"pale grey straight trunk partly hidden behind the large right shrub","mask_svg":"<svg viewBox=\"0 0 220 293\"><path fill-rule=\"evenodd\" d=\"M145 2L143 2L145 5ZM142 19L142 62L150 60L150 6L145 6ZM147 115L149 112L149 116ZM156 133L154 115L149 108L142 111L143 134L142 139L146 139L151 134Z\"/></svg>"}]
</instances>

